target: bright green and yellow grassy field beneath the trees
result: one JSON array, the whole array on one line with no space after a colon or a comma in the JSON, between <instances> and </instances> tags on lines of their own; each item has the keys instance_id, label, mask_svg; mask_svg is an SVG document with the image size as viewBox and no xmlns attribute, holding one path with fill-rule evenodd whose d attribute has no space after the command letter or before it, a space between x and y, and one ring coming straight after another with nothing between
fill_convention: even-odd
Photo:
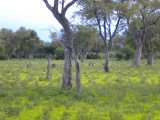
<instances>
[{"instance_id":1,"label":"bright green and yellow grassy field beneath the trees","mask_svg":"<svg viewBox=\"0 0 160 120\"><path fill-rule=\"evenodd\" d=\"M89 67L88 63L96 63ZM27 69L26 65L33 67ZM63 61L46 79L47 60L0 61L0 120L160 120L160 60L80 64L82 94L62 90Z\"/></svg>"}]
</instances>

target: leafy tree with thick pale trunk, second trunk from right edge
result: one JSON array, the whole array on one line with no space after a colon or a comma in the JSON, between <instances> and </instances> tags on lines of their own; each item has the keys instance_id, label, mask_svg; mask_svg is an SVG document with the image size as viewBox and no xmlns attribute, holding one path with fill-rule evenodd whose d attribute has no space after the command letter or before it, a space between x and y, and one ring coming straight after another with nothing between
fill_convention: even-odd
<instances>
[{"instance_id":1,"label":"leafy tree with thick pale trunk, second trunk from right edge","mask_svg":"<svg viewBox=\"0 0 160 120\"><path fill-rule=\"evenodd\" d=\"M133 65L139 66L142 56L142 48L145 42L146 29L157 23L160 19L159 0L129 0L126 1L126 14L129 30L132 33L136 44L136 56ZM157 13L157 17L152 18L152 14Z\"/></svg>"}]
</instances>

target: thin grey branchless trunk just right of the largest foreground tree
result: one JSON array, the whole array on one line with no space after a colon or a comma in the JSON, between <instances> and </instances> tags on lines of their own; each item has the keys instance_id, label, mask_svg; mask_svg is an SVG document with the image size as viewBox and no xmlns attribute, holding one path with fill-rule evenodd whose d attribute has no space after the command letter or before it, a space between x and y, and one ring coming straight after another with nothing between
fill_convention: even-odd
<instances>
[{"instance_id":1,"label":"thin grey branchless trunk just right of the largest foreground tree","mask_svg":"<svg viewBox=\"0 0 160 120\"><path fill-rule=\"evenodd\" d=\"M80 79L80 67L79 67L79 58L77 53L75 53L75 68L76 68L76 92L81 93L81 79Z\"/></svg>"}]
</instances>

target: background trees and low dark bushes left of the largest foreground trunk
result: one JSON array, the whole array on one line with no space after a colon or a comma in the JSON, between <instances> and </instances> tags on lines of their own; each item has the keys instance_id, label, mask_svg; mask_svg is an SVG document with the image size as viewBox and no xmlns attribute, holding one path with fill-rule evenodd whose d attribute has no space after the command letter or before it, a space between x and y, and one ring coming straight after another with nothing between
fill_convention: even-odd
<instances>
[{"instance_id":1,"label":"background trees and low dark bushes left of the largest foreground trunk","mask_svg":"<svg viewBox=\"0 0 160 120\"><path fill-rule=\"evenodd\" d=\"M48 54L54 59L64 59L63 48L42 41L34 30L25 27L16 32L6 28L0 30L0 60L46 58Z\"/></svg>"}]
</instances>

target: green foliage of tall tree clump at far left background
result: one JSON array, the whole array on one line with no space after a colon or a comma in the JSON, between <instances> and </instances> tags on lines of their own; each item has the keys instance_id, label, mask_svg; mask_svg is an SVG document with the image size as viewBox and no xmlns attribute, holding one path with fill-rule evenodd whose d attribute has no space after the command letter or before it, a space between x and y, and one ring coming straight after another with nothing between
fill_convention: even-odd
<instances>
[{"instance_id":1,"label":"green foliage of tall tree clump at far left background","mask_svg":"<svg viewBox=\"0 0 160 120\"><path fill-rule=\"evenodd\" d=\"M5 46L5 55L10 59L33 54L35 50L41 45L37 33L34 30L27 30L20 27L16 32L10 29L1 29L0 44ZM3 57L4 58L4 57Z\"/></svg>"}]
</instances>

